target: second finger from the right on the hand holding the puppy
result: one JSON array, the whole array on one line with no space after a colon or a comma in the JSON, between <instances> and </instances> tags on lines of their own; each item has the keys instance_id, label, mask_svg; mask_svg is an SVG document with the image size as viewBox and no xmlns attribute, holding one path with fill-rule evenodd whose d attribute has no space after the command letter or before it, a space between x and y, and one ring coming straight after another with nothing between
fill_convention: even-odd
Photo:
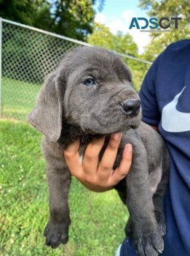
<instances>
[{"instance_id":1,"label":"second finger from the right on the hand holding the puppy","mask_svg":"<svg viewBox=\"0 0 190 256\"><path fill-rule=\"evenodd\" d=\"M119 144L122 140L122 134L111 135L106 150L103 153L103 157L100 161L99 170L111 171L116 160L116 154L119 148Z\"/></svg>"}]
</instances>

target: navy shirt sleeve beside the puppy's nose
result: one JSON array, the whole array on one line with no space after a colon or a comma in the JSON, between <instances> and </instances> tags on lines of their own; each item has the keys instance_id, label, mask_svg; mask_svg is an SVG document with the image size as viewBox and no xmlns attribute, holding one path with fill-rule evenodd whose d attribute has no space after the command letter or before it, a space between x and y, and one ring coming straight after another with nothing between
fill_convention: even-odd
<instances>
[{"instance_id":1,"label":"navy shirt sleeve beside the puppy's nose","mask_svg":"<svg viewBox=\"0 0 190 256\"><path fill-rule=\"evenodd\" d=\"M160 59L162 59L162 53L157 57L146 73L139 93L143 113L142 120L146 124L153 126L158 126L161 118L156 95L157 69L159 68Z\"/></svg>"}]
</instances>

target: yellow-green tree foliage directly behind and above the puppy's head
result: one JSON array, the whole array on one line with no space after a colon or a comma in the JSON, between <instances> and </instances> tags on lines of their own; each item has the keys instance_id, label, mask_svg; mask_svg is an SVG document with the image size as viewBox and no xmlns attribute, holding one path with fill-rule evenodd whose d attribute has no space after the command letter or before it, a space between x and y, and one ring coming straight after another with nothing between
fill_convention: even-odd
<instances>
[{"instance_id":1,"label":"yellow-green tree foliage directly behind and above the puppy's head","mask_svg":"<svg viewBox=\"0 0 190 256\"><path fill-rule=\"evenodd\" d=\"M121 31L112 34L108 27L100 23L95 23L93 33L88 37L87 42L90 45L98 45L109 50L114 50L117 53L138 57L138 46L130 34L122 34ZM138 91L149 66L124 57L122 60L130 67L133 86Z\"/></svg>"}]
</instances>

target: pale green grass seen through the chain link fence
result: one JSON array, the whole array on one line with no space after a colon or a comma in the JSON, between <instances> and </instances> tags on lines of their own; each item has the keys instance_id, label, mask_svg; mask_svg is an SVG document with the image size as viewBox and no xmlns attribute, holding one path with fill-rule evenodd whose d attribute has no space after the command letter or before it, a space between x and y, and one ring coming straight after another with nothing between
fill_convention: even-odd
<instances>
[{"instance_id":1,"label":"pale green grass seen through the chain link fence","mask_svg":"<svg viewBox=\"0 0 190 256\"><path fill-rule=\"evenodd\" d=\"M25 120L35 105L41 85L2 78L1 116Z\"/></svg>"}]
</instances>

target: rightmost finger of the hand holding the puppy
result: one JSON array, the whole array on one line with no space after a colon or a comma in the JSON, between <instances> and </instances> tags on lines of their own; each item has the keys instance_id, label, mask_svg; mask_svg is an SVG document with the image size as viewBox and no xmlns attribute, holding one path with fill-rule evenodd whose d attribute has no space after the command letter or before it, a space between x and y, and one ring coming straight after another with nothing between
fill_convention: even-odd
<instances>
[{"instance_id":1,"label":"rightmost finger of the hand holding the puppy","mask_svg":"<svg viewBox=\"0 0 190 256\"><path fill-rule=\"evenodd\" d=\"M114 186L116 185L119 181L122 180L125 176L127 176L127 173L130 170L132 163L132 145L127 144L124 146L124 150L122 153L122 159L119 164L119 167L116 168L111 173L111 176L109 177L108 184Z\"/></svg>"}]
</instances>

